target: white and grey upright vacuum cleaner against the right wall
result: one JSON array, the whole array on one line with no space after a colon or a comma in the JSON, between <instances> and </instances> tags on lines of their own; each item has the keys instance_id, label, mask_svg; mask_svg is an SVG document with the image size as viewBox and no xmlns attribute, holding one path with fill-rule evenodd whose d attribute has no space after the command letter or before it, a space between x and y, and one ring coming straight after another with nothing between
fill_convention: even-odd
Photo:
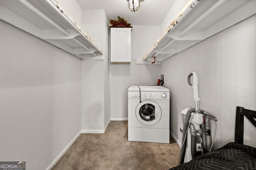
<instances>
[{"instance_id":1,"label":"white and grey upright vacuum cleaner against the right wall","mask_svg":"<svg viewBox=\"0 0 256 170\"><path fill-rule=\"evenodd\" d=\"M193 84L191 83L193 78ZM216 117L212 116L207 111L199 108L198 95L198 78L196 72L191 72L188 75L188 84L193 88L195 107L186 107L181 111L183 127L180 127L182 132L182 146L178 158L178 165L189 162L193 158L210 152L216 135ZM215 122L215 132L212 141L210 120Z\"/></svg>"}]
</instances>

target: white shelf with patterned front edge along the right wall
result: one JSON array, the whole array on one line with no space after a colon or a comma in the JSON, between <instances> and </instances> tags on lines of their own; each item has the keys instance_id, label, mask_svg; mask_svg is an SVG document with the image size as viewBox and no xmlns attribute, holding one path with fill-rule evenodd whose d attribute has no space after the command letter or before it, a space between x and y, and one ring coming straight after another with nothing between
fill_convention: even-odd
<instances>
[{"instance_id":1,"label":"white shelf with patterned front edge along the right wall","mask_svg":"<svg viewBox=\"0 0 256 170\"><path fill-rule=\"evenodd\" d=\"M253 16L255 9L256 0L190 0L142 60L163 61Z\"/></svg>"}]
</instances>

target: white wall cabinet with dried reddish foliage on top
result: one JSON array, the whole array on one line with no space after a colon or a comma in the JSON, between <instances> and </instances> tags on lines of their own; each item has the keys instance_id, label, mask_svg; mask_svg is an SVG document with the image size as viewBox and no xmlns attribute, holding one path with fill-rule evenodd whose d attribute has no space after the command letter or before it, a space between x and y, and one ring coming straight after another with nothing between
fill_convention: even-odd
<instances>
[{"instance_id":1,"label":"white wall cabinet with dried reddish foliage on top","mask_svg":"<svg viewBox=\"0 0 256 170\"><path fill-rule=\"evenodd\" d=\"M110 61L130 63L131 28L111 28L110 30Z\"/></svg>"}]
</instances>

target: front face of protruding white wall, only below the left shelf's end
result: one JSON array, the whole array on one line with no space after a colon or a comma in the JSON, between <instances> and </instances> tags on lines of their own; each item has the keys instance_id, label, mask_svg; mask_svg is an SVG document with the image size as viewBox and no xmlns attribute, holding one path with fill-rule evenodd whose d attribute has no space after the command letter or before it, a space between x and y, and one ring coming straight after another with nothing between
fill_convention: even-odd
<instances>
[{"instance_id":1,"label":"front face of protruding white wall, only below the left shelf's end","mask_svg":"<svg viewBox=\"0 0 256 170\"><path fill-rule=\"evenodd\" d=\"M82 129L104 130L104 61L82 60ZM104 131L103 131L104 132Z\"/></svg>"}]
</instances>

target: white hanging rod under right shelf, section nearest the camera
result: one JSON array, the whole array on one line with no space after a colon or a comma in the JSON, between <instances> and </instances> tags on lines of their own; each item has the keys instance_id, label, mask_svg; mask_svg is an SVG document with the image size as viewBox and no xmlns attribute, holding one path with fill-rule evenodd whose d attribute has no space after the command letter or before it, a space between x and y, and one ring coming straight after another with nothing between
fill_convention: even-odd
<instances>
[{"instance_id":1,"label":"white hanging rod under right shelf, section nearest the camera","mask_svg":"<svg viewBox=\"0 0 256 170\"><path fill-rule=\"evenodd\" d=\"M195 20L194 22L192 22L188 27L186 27L186 29L184 29L181 33L179 33L177 35L177 37L181 37L182 35L184 35L188 30L190 30L192 27L194 27L196 24L198 24L200 21L202 21L206 16L208 16L208 14L210 14L211 12L213 12L214 10L216 10L216 8L218 8L220 5L222 5L226 0L219 0L218 2L216 2L216 4L214 4L209 10L207 10L204 14L202 14L197 20Z\"/></svg>"}]
</instances>

